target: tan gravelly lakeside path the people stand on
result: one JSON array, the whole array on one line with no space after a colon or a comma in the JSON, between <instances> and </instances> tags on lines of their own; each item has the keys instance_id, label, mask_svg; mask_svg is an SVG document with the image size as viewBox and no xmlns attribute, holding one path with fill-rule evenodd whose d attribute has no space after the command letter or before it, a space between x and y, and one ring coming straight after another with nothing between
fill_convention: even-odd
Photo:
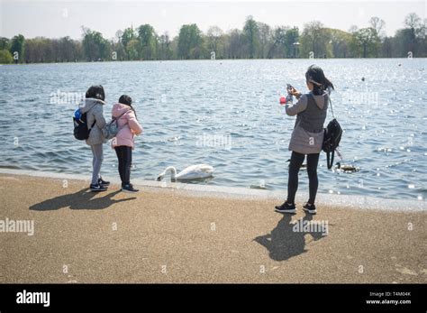
<instances>
[{"instance_id":1,"label":"tan gravelly lakeside path the people stand on","mask_svg":"<svg viewBox=\"0 0 427 313\"><path fill-rule=\"evenodd\" d=\"M425 212L323 206L295 232L273 200L86 187L0 174L0 220L34 221L0 233L0 282L427 281Z\"/></svg>"}]
</instances>

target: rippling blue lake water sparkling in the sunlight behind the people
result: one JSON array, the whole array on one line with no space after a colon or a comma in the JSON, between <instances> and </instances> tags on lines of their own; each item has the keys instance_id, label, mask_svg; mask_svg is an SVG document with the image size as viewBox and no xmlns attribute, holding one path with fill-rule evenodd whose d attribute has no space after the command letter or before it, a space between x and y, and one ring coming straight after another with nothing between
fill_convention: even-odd
<instances>
[{"instance_id":1,"label":"rippling blue lake water sparkling in the sunlight behind the people","mask_svg":"<svg viewBox=\"0 0 427 313\"><path fill-rule=\"evenodd\" d=\"M104 115L122 94L135 101L144 128L132 177L155 180L173 165L207 163L212 180L195 183L283 189L295 117L278 99L286 83L305 91L304 73L320 65L332 80L332 106L345 133L342 164L319 161L319 192L379 198L427 197L427 62L389 60L188 60L10 65L0 67L0 168L86 174L91 152L73 137L76 99L104 86ZM364 78L364 79L362 79ZM328 112L326 123L332 119ZM118 176L104 146L103 175ZM300 191L307 193L306 172Z\"/></svg>"}]
</instances>

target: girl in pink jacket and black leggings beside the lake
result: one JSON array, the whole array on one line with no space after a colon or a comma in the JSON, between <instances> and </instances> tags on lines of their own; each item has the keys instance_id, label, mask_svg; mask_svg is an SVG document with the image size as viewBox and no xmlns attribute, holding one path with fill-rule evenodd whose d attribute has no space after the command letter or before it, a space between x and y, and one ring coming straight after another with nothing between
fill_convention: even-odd
<instances>
[{"instance_id":1,"label":"girl in pink jacket and black leggings beside the lake","mask_svg":"<svg viewBox=\"0 0 427 313\"><path fill-rule=\"evenodd\" d=\"M138 192L131 184L132 150L135 146L133 137L142 133L142 126L138 123L135 110L132 107L132 98L123 95L119 103L113 106L113 118L117 119L119 132L111 141L111 146L119 160L119 174L124 192Z\"/></svg>"}]
</instances>

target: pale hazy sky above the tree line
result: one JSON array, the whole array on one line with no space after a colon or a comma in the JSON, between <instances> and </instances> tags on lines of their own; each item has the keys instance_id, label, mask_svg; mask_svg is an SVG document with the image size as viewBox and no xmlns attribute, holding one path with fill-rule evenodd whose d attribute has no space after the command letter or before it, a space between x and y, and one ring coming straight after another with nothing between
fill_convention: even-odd
<instances>
[{"instance_id":1,"label":"pale hazy sky above the tree line","mask_svg":"<svg viewBox=\"0 0 427 313\"><path fill-rule=\"evenodd\" d=\"M69 36L80 39L81 26L114 38L117 30L150 23L159 34L175 36L185 23L196 23L206 32L217 25L228 31L241 29L248 15L270 26L297 26L316 20L327 27L348 31L351 25L367 27L371 16L386 22L386 34L404 27L404 16L427 15L427 0L368 1L311 0L261 2L241 0L169 1L145 0L0 0L0 36L11 38L22 33L26 38Z\"/></svg>"}]
</instances>

